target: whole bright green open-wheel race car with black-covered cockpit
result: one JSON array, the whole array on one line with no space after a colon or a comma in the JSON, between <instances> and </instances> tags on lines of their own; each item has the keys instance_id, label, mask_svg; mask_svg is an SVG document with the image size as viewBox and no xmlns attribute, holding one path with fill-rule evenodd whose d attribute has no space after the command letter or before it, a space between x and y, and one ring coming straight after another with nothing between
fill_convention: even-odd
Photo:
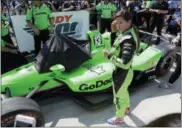
<instances>
[{"instance_id":1,"label":"whole bright green open-wheel race car with black-covered cockpit","mask_svg":"<svg viewBox=\"0 0 182 128\"><path fill-rule=\"evenodd\" d=\"M103 54L103 50L111 48L110 33L93 36L93 31L96 30L88 32L88 40L76 40L55 32L43 45L34 62L2 75L2 127L14 124L34 126L23 122L21 115L32 117L35 126L44 126L43 113L31 98L34 94L48 90L63 90L74 101L90 110L112 103L112 96L98 103L84 98L87 94L112 94L113 78L116 77L114 72L117 70ZM132 63L135 73L132 84L164 76L174 60L174 45L164 41L159 45L141 42L139 53Z\"/></svg>"}]
</instances>

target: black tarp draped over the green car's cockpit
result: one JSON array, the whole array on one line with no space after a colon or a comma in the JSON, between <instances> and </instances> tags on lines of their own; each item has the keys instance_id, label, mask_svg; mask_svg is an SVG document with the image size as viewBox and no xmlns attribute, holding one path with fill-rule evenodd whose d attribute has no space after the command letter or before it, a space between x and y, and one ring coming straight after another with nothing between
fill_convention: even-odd
<instances>
[{"instance_id":1,"label":"black tarp draped over the green car's cockpit","mask_svg":"<svg viewBox=\"0 0 182 128\"><path fill-rule=\"evenodd\" d=\"M40 73L49 71L49 68L56 64L61 64L65 67L65 71L70 71L83 62L90 59L90 55L79 44L78 40L61 34L54 34L43 45L40 53L36 57L35 67Z\"/></svg>"}]
</instances>

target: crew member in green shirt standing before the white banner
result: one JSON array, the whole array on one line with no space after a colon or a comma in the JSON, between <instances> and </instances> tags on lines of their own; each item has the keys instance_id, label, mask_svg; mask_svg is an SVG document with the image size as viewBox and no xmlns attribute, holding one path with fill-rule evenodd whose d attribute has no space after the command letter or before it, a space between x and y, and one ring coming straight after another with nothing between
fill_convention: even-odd
<instances>
[{"instance_id":1,"label":"crew member in green shirt standing before the white banner","mask_svg":"<svg viewBox=\"0 0 182 128\"><path fill-rule=\"evenodd\" d=\"M26 21L28 27L34 31L35 55L41 49L41 41L45 43L49 39L52 29L51 11L41 0L33 0L33 6L27 10ZM49 30L50 29L50 30Z\"/></svg>"}]
</instances>

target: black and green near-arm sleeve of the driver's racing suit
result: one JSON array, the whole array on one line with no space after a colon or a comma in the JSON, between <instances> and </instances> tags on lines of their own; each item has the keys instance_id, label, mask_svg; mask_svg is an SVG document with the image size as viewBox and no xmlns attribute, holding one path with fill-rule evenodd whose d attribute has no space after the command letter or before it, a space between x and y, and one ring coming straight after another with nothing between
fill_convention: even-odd
<instances>
[{"instance_id":1,"label":"black and green near-arm sleeve of the driver's racing suit","mask_svg":"<svg viewBox=\"0 0 182 128\"><path fill-rule=\"evenodd\" d=\"M114 47L114 46L113 46ZM118 48L114 47L114 50L118 50ZM132 39L127 39L124 40L122 43L120 43L120 54L117 57L115 54L110 54L108 58L117 66L122 69L129 69L132 60L134 57L134 53L136 50L136 44L134 40Z\"/></svg>"}]
</instances>

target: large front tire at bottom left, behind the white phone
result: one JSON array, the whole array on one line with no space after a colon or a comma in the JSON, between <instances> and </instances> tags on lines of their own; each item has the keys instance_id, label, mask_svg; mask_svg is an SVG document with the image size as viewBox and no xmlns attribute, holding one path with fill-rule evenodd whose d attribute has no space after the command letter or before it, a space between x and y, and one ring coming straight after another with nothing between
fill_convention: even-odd
<instances>
[{"instance_id":1,"label":"large front tire at bottom left, behind the white phone","mask_svg":"<svg viewBox=\"0 0 182 128\"><path fill-rule=\"evenodd\" d=\"M16 115L34 117L36 119L36 127L43 127L45 124L44 116L39 105L28 98L15 97L2 101L1 126L13 127Z\"/></svg>"}]
</instances>

